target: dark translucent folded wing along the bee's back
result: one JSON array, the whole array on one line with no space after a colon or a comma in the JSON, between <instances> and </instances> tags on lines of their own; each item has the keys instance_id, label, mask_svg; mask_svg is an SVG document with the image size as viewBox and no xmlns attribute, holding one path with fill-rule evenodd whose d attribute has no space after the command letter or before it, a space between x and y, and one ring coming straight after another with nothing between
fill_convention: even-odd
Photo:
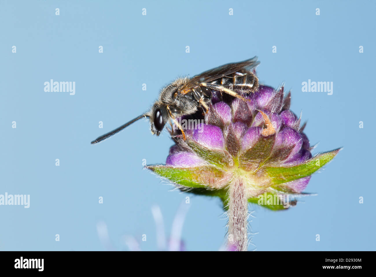
<instances>
[{"instance_id":1,"label":"dark translucent folded wing along the bee's back","mask_svg":"<svg viewBox=\"0 0 376 277\"><path fill-rule=\"evenodd\" d=\"M249 60L240 61L238 63L224 64L223 66L202 72L201 74L196 75L188 80L188 83L186 83L186 85L181 89L180 93L188 93L190 92L191 88L196 87L200 83L208 83L235 72L251 72L253 69L255 69L256 66L259 65L259 63L260 62L257 61L257 57L253 57Z\"/></svg>"}]
</instances>

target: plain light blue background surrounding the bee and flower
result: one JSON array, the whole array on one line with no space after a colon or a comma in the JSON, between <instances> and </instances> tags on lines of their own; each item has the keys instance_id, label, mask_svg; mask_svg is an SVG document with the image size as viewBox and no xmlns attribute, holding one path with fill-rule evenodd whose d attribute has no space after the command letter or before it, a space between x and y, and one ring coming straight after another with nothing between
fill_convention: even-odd
<instances>
[{"instance_id":1,"label":"plain light blue background surrounding the bee and flower","mask_svg":"<svg viewBox=\"0 0 376 277\"><path fill-rule=\"evenodd\" d=\"M127 250L129 235L156 250L151 207L161 207L168 235L186 196L186 249L218 250L226 232L220 200L170 191L143 170L143 159L165 162L167 132L153 136L140 121L99 145L90 141L147 110L174 78L255 55L262 83L292 90L291 110L303 110L311 145L320 142L313 153L344 150L312 177L305 192L317 196L281 212L250 206L253 243L374 250L375 8L371 1L1 1L0 194L30 194L30 208L0 206L0 250L109 249L99 222L112 249ZM44 92L50 79L75 81L76 95ZM333 81L333 95L302 92L308 79Z\"/></svg>"}]
</instances>

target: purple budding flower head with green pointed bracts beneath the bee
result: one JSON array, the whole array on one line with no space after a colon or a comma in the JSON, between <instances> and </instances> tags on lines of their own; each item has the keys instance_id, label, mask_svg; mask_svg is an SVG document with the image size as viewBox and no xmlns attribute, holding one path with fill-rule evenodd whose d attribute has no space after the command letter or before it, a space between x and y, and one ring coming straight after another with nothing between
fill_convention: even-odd
<instances>
[{"instance_id":1,"label":"purple budding flower head with green pointed bracts beneath the bee","mask_svg":"<svg viewBox=\"0 0 376 277\"><path fill-rule=\"evenodd\" d=\"M259 203L270 195L299 196L311 174L340 150L312 156L305 125L289 110L291 93L284 97L284 87L239 92L247 101L212 93L208 113L179 118L185 140L180 130L171 130L175 144L166 164L148 166L181 189L219 196L224 207L234 178L242 180L249 202ZM279 210L285 204L265 202L264 206Z\"/></svg>"}]
</instances>

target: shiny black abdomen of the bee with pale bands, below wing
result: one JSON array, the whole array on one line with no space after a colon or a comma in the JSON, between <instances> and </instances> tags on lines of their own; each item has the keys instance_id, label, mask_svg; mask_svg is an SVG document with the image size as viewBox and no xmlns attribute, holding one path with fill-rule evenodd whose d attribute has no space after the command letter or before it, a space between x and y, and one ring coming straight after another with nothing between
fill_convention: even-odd
<instances>
[{"instance_id":1,"label":"shiny black abdomen of the bee with pale bands, below wing","mask_svg":"<svg viewBox=\"0 0 376 277\"><path fill-rule=\"evenodd\" d=\"M255 92L258 87L258 78L253 73L233 73L228 76L219 78L211 82L211 84L233 88L233 90L249 90Z\"/></svg>"}]
</instances>

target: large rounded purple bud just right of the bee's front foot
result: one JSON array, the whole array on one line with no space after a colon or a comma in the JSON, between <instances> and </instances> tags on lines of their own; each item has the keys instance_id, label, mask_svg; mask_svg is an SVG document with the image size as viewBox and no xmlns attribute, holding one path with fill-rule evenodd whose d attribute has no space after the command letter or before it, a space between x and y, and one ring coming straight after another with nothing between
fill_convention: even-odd
<instances>
[{"instance_id":1,"label":"large rounded purple bud just right of the bee's front foot","mask_svg":"<svg viewBox=\"0 0 376 277\"><path fill-rule=\"evenodd\" d=\"M224 137L220 127L199 124L198 129L193 131L193 140L208 148L223 149Z\"/></svg>"}]
</instances>

